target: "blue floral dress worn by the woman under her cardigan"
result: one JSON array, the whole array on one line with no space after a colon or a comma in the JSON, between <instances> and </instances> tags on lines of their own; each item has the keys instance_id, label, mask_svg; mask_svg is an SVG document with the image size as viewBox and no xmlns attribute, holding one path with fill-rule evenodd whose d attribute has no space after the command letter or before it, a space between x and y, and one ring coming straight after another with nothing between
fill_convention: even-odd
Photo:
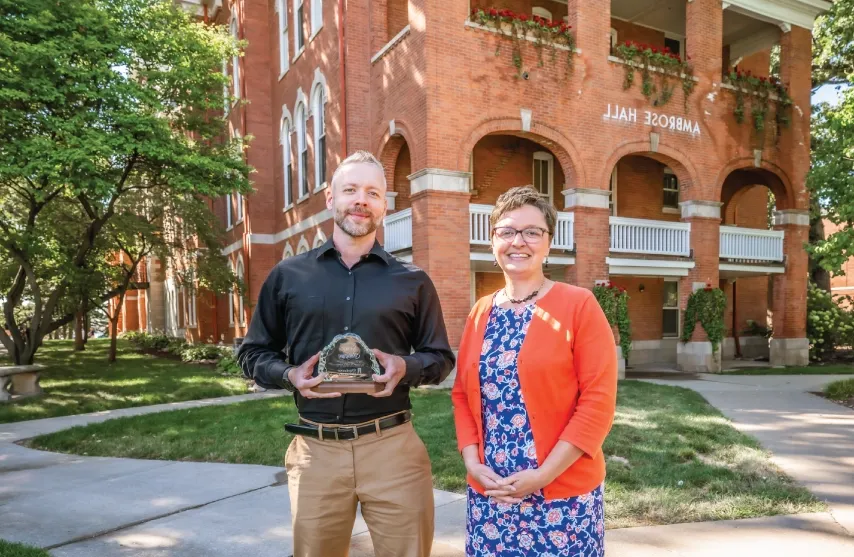
<instances>
[{"instance_id":1,"label":"blue floral dress worn by the woman under her cardigan","mask_svg":"<svg viewBox=\"0 0 854 557\"><path fill-rule=\"evenodd\" d=\"M535 304L493 306L480 356L480 391L487 466L502 477L537 467L516 357ZM541 491L520 504L498 503L468 488L466 555L475 557L602 557L603 488L546 501Z\"/></svg>"}]
</instances>

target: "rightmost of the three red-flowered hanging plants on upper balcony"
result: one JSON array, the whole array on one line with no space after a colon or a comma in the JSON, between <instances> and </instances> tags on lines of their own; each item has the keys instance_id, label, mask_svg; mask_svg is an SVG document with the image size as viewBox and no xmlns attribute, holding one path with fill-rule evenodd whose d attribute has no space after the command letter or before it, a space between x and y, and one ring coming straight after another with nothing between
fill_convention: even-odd
<instances>
[{"instance_id":1,"label":"rightmost of the three red-flowered hanging plants on upper balcony","mask_svg":"<svg viewBox=\"0 0 854 557\"><path fill-rule=\"evenodd\" d=\"M789 126L791 122L792 98L786 87L776 77L755 76L753 72L743 72L738 68L724 77L724 82L735 88L735 121L739 124L745 120L745 99L750 101L750 115L753 118L753 128L757 132L765 130L768 112L774 107L774 121L777 130Z\"/></svg>"}]
</instances>

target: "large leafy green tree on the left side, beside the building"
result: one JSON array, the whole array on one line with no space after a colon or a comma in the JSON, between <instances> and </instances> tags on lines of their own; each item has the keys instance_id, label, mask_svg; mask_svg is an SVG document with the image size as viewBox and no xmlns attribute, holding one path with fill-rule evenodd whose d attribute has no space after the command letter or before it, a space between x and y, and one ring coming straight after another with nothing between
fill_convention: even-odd
<instances>
[{"instance_id":1,"label":"large leafy green tree on the left side, beside the building","mask_svg":"<svg viewBox=\"0 0 854 557\"><path fill-rule=\"evenodd\" d=\"M239 48L171 0L0 0L0 342L15 363L83 296L118 292L104 235L126 197L250 191L221 116L218 68Z\"/></svg>"}]
</instances>

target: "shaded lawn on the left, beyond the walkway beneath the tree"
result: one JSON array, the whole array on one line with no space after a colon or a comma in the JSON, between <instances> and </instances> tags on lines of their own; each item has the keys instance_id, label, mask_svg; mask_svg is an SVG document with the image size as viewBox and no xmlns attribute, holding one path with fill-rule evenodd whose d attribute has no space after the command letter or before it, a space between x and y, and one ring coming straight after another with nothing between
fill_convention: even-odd
<instances>
[{"instance_id":1,"label":"shaded lawn on the left, beyond the walkway beneath the tree","mask_svg":"<svg viewBox=\"0 0 854 557\"><path fill-rule=\"evenodd\" d=\"M90 339L86 350L75 352L73 341L46 342L36 354L36 363L48 367L41 376L45 394L0 404L0 423L247 392L240 377L141 354L121 339L116 362L108 364L109 346L109 339Z\"/></svg>"}]
</instances>

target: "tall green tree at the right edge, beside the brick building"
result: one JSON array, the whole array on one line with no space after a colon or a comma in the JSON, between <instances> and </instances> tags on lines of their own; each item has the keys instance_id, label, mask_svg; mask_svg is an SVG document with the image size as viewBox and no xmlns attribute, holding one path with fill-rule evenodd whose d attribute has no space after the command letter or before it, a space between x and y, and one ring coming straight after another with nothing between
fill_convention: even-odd
<instances>
[{"instance_id":1,"label":"tall green tree at the right edge, beside the brick building","mask_svg":"<svg viewBox=\"0 0 854 557\"><path fill-rule=\"evenodd\" d=\"M828 273L839 274L854 255L854 0L837 0L814 31L813 86L838 87L836 105L813 111L812 166L807 185L811 210L810 275L829 291ZM842 225L826 235L822 220Z\"/></svg>"}]
</instances>

